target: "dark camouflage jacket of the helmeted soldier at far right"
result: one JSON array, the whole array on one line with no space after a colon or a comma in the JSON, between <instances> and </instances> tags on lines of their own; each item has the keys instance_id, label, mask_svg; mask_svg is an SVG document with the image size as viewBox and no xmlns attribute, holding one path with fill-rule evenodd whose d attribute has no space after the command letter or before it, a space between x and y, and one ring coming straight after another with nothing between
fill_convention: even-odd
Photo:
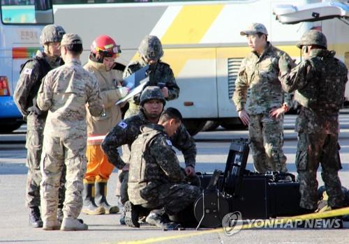
<instances>
[{"instance_id":1,"label":"dark camouflage jacket of the helmeted soldier at far right","mask_svg":"<svg viewBox=\"0 0 349 244\"><path fill-rule=\"evenodd\" d=\"M281 74L283 89L296 91L302 105L297 118L297 132L327 134L339 132L339 109L343 106L348 69L334 51L313 49L290 73Z\"/></svg>"}]
</instances>

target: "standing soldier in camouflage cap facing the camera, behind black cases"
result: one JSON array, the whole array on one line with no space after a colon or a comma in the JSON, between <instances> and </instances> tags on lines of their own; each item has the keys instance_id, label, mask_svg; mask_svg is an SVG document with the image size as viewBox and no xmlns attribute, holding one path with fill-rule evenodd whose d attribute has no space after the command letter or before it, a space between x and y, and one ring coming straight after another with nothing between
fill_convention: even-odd
<instances>
[{"instance_id":1,"label":"standing soldier in camouflage cap facing the camera, behind black cases","mask_svg":"<svg viewBox=\"0 0 349 244\"><path fill-rule=\"evenodd\" d=\"M288 54L267 41L267 29L253 23L246 31L252 52L242 61L233 100L244 125L248 125L255 170L287 172L283 153L283 114L291 106L278 79L280 67L294 66ZM246 107L247 91L251 96Z\"/></svg>"}]
</instances>

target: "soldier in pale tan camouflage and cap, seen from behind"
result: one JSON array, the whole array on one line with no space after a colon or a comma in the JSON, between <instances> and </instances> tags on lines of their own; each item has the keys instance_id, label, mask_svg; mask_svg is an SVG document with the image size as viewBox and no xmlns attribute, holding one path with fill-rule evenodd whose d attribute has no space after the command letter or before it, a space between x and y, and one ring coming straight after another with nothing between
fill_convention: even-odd
<instances>
[{"instance_id":1,"label":"soldier in pale tan camouflage and cap, seen from behind","mask_svg":"<svg viewBox=\"0 0 349 244\"><path fill-rule=\"evenodd\" d=\"M82 208L82 178L86 172L86 110L92 116L103 114L103 101L94 75L82 68L82 40L65 34L61 55L65 65L47 73L38 91L38 107L48 110L44 130L40 183L43 229L84 230L87 224L77 220ZM66 165L64 218L56 218L58 186Z\"/></svg>"}]
</instances>

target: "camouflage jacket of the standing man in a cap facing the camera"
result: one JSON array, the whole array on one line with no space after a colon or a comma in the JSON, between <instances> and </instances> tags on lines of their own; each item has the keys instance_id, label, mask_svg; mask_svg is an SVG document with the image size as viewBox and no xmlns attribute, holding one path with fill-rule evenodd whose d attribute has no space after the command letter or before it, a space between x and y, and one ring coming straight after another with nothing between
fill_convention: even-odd
<instances>
[{"instance_id":1,"label":"camouflage jacket of the standing man in a cap facing the camera","mask_svg":"<svg viewBox=\"0 0 349 244\"><path fill-rule=\"evenodd\" d=\"M283 58L281 58L283 57ZM274 107L281 107L284 103L292 106L290 95L284 93L279 81L280 69L294 67L288 54L267 43L265 51L258 56L251 52L242 61L232 100L237 111L245 109L247 91L251 89L251 95L246 108L249 114L263 114Z\"/></svg>"}]
</instances>

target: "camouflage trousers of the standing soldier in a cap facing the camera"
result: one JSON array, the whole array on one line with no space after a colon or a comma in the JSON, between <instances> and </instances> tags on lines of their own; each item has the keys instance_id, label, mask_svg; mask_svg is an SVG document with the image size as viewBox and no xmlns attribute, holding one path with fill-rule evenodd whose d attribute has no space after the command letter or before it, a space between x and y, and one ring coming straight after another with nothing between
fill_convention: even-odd
<instances>
[{"instance_id":1,"label":"camouflage trousers of the standing soldier in a cap facing the camera","mask_svg":"<svg viewBox=\"0 0 349 244\"><path fill-rule=\"evenodd\" d=\"M287 172L283 153L283 117L273 119L269 114L250 115L248 125L250 148L255 170Z\"/></svg>"}]
</instances>

